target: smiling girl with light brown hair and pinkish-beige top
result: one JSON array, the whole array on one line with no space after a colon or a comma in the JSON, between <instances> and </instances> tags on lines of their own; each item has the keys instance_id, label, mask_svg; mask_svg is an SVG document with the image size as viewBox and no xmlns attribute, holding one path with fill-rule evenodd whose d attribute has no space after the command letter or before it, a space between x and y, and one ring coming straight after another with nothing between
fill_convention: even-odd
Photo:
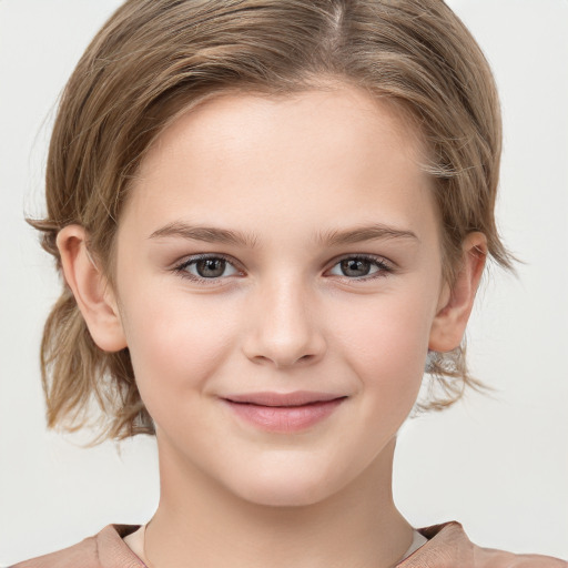
<instances>
[{"instance_id":1,"label":"smiling girl with light brown hair and pinkish-beige top","mask_svg":"<svg viewBox=\"0 0 568 568\"><path fill-rule=\"evenodd\" d=\"M495 227L493 80L433 2L129 1L71 78L36 221L51 425L155 434L151 523L20 566L564 566L414 530L396 433L443 397Z\"/></svg>"}]
</instances>

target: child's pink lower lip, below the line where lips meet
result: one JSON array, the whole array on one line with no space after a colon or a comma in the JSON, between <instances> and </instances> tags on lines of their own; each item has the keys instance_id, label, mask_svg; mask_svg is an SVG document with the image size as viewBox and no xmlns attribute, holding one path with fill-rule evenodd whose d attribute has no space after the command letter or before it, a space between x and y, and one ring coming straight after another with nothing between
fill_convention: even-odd
<instances>
[{"instance_id":1,"label":"child's pink lower lip, below the line where lips meet","mask_svg":"<svg viewBox=\"0 0 568 568\"><path fill-rule=\"evenodd\" d=\"M266 432L301 432L327 418L345 398L317 402L303 406L261 406L256 404L224 403L243 420Z\"/></svg>"}]
</instances>

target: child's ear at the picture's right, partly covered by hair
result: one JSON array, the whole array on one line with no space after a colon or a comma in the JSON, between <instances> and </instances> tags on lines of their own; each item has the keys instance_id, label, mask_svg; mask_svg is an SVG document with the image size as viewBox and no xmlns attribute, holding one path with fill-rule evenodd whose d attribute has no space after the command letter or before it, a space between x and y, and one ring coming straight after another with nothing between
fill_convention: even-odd
<instances>
[{"instance_id":1,"label":"child's ear at the picture's right, partly covered by hair","mask_svg":"<svg viewBox=\"0 0 568 568\"><path fill-rule=\"evenodd\" d=\"M430 328L430 351L447 353L462 343L486 258L487 239L483 233L469 233L463 244L463 264L454 285L446 284L440 294Z\"/></svg>"}]
</instances>

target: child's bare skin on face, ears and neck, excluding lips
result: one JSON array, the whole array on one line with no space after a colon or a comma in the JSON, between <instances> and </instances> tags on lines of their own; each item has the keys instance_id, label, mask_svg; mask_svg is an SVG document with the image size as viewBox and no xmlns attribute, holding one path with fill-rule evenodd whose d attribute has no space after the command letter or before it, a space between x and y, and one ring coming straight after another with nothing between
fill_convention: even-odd
<instances>
[{"instance_id":1,"label":"child's bare skin on face, ears and neck, excluding lips","mask_svg":"<svg viewBox=\"0 0 568 568\"><path fill-rule=\"evenodd\" d=\"M352 87L225 94L176 120L144 159L119 225L114 291L84 231L60 232L94 341L129 347L155 420L161 500L146 562L381 568L408 548L390 489L396 433L427 349L460 343L486 255L473 233L456 282L444 282L420 160L419 136ZM182 225L247 242L189 239ZM396 234L324 239L369 225ZM196 254L230 263L195 281ZM339 261L357 255L374 257L358 265L368 275L345 274ZM294 433L222 404L265 390L345 399Z\"/></svg>"}]
</instances>

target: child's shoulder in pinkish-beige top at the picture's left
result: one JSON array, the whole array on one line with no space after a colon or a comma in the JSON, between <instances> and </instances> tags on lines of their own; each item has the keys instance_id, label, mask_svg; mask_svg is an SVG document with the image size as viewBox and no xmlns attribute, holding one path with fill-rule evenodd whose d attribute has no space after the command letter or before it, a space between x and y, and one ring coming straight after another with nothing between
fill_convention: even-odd
<instances>
[{"instance_id":1,"label":"child's shoulder in pinkish-beige top at the picture's left","mask_svg":"<svg viewBox=\"0 0 568 568\"><path fill-rule=\"evenodd\" d=\"M136 530L135 525L109 525L81 542L17 564L11 568L145 568L122 538Z\"/></svg>"}]
</instances>

